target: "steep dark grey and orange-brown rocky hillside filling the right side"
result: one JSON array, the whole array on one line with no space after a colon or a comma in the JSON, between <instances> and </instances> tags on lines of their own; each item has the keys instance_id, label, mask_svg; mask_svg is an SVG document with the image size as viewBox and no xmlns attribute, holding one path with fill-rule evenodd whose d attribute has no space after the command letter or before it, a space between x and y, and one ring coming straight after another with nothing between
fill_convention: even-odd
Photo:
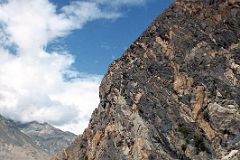
<instances>
[{"instance_id":1,"label":"steep dark grey and orange-brown rocky hillside filling the right side","mask_svg":"<svg viewBox=\"0 0 240 160\"><path fill-rule=\"evenodd\" d=\"M177 0L114 61L55 160L240 159L240 2Z\"/></svg>"}]
</instances>

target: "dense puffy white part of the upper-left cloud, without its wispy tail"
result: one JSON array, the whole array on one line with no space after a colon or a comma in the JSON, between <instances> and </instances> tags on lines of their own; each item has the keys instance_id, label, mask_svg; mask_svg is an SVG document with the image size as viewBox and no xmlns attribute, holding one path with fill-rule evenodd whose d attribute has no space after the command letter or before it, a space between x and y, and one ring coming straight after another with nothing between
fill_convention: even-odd
<instances>
[{"instance_id":1,"label":"dense puffy white part of the upper-left cloud, without its wispy tail","mask_svg":"<svg viewBox=\"0 0 240 160\"><path fill-rule=\"evenodd\" d=\"M47 0L9 0L1 5L0 20L20 49L41 49L53 38L64 36L73 25L55 12Z\"/></svg>"}]
</instances>

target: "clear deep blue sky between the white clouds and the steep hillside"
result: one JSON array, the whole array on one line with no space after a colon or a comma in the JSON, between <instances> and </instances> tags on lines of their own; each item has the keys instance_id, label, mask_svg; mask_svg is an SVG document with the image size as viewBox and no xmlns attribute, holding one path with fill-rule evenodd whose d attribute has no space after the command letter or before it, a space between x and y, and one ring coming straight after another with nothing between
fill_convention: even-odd
<instances>
[{"instance_id":1,"label":"clear deep blue sky between the white clouds and the steep hillside","mask_svg":"<svg viewBox=\"0 0 240 160\"><path fill-rule=\"evenodd\" d=\"M58 6L66 5L66 0L52 1ZM122 17L90 22L81 30L75 30L68 37L53 44L64 46L75 55L73 67L77 70L105 74L108 65L121 56L155 17L170 4L171 0L149 0L141 6L124 7Z\"/></svg>"}]
</instances>

